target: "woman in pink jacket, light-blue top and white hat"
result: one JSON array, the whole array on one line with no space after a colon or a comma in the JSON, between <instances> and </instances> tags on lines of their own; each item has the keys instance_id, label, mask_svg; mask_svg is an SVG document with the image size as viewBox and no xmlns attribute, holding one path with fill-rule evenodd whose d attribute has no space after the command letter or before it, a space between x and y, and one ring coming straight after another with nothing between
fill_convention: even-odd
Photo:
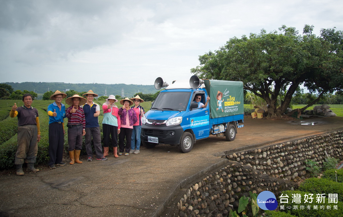
<instances>
[{"instance_id":1,"label":"woman in pink jacket, light-blue top and white hat","mask_svg":"<svg viewBox=\"0 0 343 217\"><path fill-rule=\"evenodd\" d=\"M112 138L113 155L119 158L118 151L118 134L120 133L120 116L118 107L114 104L118 102L114 95L109 95L106 102L103 104L104 119L103 119L103 135L104 135L104 157L108 156L108 147L110 143L109 135Z\"/></svg>"}]
</instances>

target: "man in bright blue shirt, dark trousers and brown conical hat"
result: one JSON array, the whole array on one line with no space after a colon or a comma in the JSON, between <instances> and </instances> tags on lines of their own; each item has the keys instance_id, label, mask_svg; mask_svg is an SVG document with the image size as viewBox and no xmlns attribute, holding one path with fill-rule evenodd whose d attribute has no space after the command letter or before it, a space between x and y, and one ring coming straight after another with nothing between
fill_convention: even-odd
<instances>
[{"instance_id":1,"label":"man in bright blue shirt, dark trousers and brown conical hat","mask_svg":"<svg viewBox=\"0 0 343 217\"><path fill-rule=\"evenodd\" d=\"M67 94L58 90L50 96L50 100L55 100L48 106L49 115L49 168L55 169L56 165L66 165L62 162L64 146L64 126L63 119L66 118L66 106L62 104L62 99Z\"/></svg>"}]
</instances>

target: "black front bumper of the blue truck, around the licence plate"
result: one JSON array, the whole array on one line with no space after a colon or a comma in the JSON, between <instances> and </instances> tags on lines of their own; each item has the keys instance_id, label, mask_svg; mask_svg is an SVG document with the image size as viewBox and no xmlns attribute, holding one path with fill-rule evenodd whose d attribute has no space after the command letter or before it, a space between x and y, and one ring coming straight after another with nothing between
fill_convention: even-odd
<instances>
[{"instance_id":1,"label":"black front bumper of the blue truck, around the licence plate","mask_svg":"<svg viewBox=\"0 0 343 217\"><path fill-rule=\"evenodd\" d=\"M178 126L155 127L142 125L141 140L148 141L148 136L157 137L159 144L178 145L184 129Z\"/></svg>"}]
</instances>

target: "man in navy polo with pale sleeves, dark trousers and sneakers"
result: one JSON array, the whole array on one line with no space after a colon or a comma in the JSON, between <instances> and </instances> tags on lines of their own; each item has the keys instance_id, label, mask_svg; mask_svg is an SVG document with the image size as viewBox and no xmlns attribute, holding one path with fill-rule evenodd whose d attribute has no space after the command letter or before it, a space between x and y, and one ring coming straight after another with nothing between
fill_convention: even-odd
<instances>
[{"instance_id":1,"label":"man in navy polo with pale sleeves, dark trousers and sneakers","mask_svg":"<svg viewBox=\"0 0 343 217\"><path fill-rule=\"evenodd\" d=\"M87 99L86 104L80 106L85 113L86 119L85 146L88 156L87 161L93 160L92 137L96 159L107 160L107 158L104 157L103 148L101 147L100 126L98 121L98 116L100 115L100 106L93 102L94 97L98 96L98 94L95 94L92 90L89 90L87 93L84 93L83 96L86 96Z\"/></svg>"}]
</instances>

